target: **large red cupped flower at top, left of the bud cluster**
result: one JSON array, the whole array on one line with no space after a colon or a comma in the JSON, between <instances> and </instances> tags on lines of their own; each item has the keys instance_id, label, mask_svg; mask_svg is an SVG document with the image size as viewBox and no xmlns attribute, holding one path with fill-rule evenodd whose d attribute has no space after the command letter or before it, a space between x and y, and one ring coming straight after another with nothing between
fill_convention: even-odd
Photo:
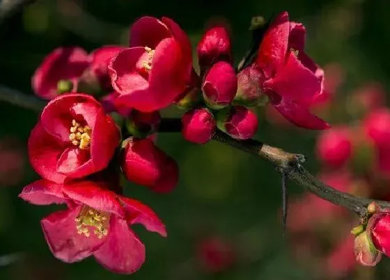
<instances>
[{"instance_id":1,"label":"large red cupped flower at top, left of the bud cluster","mask_svg":"<svg viewBox=\"0 0 390 280\"><path fill-rule=\"evenodd\" d=\"M187 35L163 17L141 17L130 31L130 49L109 65L117 104L144 112L169 106L185 91L192 73Z\"/></svg>"}]
</instances>

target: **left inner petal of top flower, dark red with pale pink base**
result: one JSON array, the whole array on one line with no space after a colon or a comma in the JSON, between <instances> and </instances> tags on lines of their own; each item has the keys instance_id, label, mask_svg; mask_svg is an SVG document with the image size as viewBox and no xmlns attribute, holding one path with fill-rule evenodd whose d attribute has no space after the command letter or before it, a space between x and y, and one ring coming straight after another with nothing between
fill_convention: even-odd
<instances>
[{"instance_id":1,"label":"left inner petal of top flower, dark red with pale pink base","mask_svg":"<svg viewBox=\"0 0 390 280\"><path fill-rule=\"evenodd\" d=\"M145 48L134 47L120 51L109 64L112 86L119 94L128 94L148 88L148 81L137 72L137 62Z\"/></svg>"}]
</instances>

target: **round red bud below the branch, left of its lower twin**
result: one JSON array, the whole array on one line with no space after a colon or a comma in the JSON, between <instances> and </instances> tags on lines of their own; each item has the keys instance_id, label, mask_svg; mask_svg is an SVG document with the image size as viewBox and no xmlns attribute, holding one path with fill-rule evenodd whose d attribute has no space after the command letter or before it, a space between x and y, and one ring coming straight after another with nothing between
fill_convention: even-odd
<instances>
[{"instance_id":1,"label":"round red bud below the branch, left of its lower twin","mask_svg":"<svg viewBox=\"0 0 390 280\"><path fill-rule=\"evenodd\" d=\"M182 117L182 135L185 140L205 144L214 135L217 124L206 108L189 110Z\"/></svg>"}]
</instances>

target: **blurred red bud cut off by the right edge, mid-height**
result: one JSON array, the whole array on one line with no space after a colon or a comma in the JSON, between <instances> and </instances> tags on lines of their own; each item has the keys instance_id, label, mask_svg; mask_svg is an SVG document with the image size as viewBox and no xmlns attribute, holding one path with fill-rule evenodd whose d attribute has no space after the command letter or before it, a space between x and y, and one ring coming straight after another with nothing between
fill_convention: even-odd
<instances>
[{"instance_id":1,"label":"blurred red bud cut off by the right edge, mid-height","mask_svg":"<svg viewBox=\"0 0 390 280\"><path fill-rule=\"evenodd\" d=\"M374 110L364 120L366 134L378 147L387 147L390 141L390 110L380 108Z\"/></svg>"}]
</instances>

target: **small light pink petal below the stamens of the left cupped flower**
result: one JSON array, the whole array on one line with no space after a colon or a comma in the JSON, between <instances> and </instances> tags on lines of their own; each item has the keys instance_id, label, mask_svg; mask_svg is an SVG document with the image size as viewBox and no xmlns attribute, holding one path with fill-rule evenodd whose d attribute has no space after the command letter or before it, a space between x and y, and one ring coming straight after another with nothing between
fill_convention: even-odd
<instances>
[{"instance_id":1,"label":"small light pink petal below the stamens of the left cupped flower","mask_svg":"<svg viewBox=\"0 0 390 280\"><path fill-rule=\"evenodd\" d=\"M79 147L69 147L59 157L57 171L72 178L82 178L93 173L90 152Z\"/></svg>"}]
</instances>

